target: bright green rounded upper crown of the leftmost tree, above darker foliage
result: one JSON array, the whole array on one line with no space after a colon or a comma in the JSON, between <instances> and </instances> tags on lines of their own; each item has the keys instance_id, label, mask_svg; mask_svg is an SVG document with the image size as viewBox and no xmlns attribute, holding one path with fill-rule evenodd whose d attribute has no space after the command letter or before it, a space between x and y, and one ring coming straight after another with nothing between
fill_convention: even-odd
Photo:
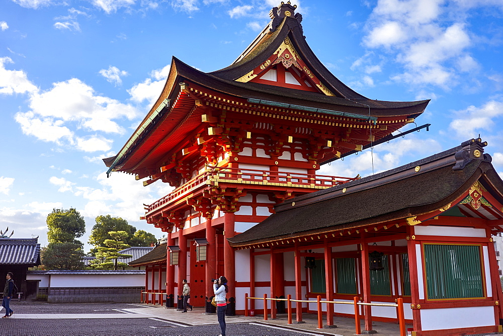
<instances>
[{"instance_id":1,"label":"bright green rounded upper crown of the leftmost tree, above darker foliage","mask_svg":"<svg viewBox=\"0 0 503 336\"><path fill-rule=\"evenodd\" d=\"M47 216L47 240L49 243L79 243L76 238L86 232L86 222L74 208L52 209Z\"/></svg>"}]
</instances>

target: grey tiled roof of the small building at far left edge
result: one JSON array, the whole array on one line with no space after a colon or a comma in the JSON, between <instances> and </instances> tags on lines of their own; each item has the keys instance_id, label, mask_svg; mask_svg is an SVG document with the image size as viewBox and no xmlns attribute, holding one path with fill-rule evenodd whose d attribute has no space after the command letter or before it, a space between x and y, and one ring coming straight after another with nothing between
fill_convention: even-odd
<instances>
[{"instance_id":1,"label":"grey tiled roof of the small building at far left edge","mask_svg":"<svg viewBox=\"0 0 503 336\"><path fill-rule=\"evenodd\" d=\"M0 265L40 265L37 238L0 238Z\"/></svg>"}]
</instances>

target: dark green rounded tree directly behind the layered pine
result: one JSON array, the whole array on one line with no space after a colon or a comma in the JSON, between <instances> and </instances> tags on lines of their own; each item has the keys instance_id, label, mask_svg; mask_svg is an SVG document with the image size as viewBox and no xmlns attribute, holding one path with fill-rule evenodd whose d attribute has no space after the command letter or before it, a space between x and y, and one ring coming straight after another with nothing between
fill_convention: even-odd
<instances>
[{"instance_id":1,"label":"dark green rounded tree directly behind the layered pine","mask_svg":"<svg viewBox=\"0 0 503 336\"><path fill-rule=\"evenodd\" d=\"M125 242L131 245L129 237L134 236L136 227L129 225L127 220L120 217L112 217L110 215L96 217L96 224L93 226L91 235L89 236L89 243L95 246L95 248L91 249L92 253L97 253L99 246L106 247L105 240L112 238L109 234L111 231L125 231L128 234L128 239Z\"/></svg>"}]
</instances>

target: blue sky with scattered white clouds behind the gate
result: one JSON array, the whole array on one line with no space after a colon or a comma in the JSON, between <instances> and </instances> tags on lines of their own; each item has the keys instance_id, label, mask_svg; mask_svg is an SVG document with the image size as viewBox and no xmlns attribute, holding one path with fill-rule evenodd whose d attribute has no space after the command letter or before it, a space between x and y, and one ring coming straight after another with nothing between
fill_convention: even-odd
<instances>
[{"instance_id":1,"label":"blue sky with scattered white clouds behind the gate","mask_svg":"<svg viewBox=\"0 0 503 336\"><path fill-rule=\"evenodd\" d=\"M4 0L0 4L0 228L40 235L52 208L86 218L144 221L143 203L171 187L106 178L158 97L172 55L202 71L223 68L269 22L272 0ZM293 1L325 66L379 100L431 99L414 132L320 174L382 172L477 137L503 176L501 0ZM413 124L408 128L414 127ZM407 129L407 128L404 128ZM87 246L86 248L89 248Z\"/></svg>"}]
</instances>

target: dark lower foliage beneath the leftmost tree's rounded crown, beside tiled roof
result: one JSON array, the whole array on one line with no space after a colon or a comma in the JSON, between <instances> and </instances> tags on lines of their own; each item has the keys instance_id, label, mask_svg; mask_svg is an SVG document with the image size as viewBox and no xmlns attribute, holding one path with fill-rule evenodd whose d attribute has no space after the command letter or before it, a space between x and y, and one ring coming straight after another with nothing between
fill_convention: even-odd
<instances>
[{"instance_id":1,"label":"dark lower foliage beneath the leftmost tree's rounded crown, beside tiled roof","mask_svg":"<svg viewBox=\"0 0 503 336\"><path fill-rule=\"evenodd\" d=\"M81 242L51 242L41 251L46 270L81 270L84 268Z\"/></svg>"}]
</instances>

